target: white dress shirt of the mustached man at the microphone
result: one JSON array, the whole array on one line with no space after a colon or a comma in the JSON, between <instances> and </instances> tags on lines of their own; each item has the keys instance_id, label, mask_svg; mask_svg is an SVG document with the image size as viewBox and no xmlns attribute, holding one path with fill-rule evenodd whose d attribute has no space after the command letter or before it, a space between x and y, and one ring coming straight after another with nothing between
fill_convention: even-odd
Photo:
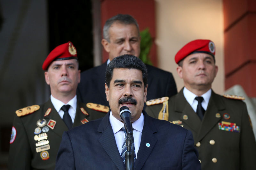
<instances>
[{"instance_id":1,"label":"white dress shirt of the mustached man at the microphone","mask_svg":"<svg viewBox=\"0 0 256 170\"><path fill-rule=\"evenodd\" d=\"M110 111L109 122L112 126L114 136L116 139L116 145L121 156L122 145L124 143L124 138L125 138L125 133L121 129L124 127L124 123L117 120L112 115L112 111ZM138 151L140 147L143 125L144 125L144 115L141 113L140 118L137 121L132 123L136 159L137 159Z\"/></svg>"}]
</instances>

